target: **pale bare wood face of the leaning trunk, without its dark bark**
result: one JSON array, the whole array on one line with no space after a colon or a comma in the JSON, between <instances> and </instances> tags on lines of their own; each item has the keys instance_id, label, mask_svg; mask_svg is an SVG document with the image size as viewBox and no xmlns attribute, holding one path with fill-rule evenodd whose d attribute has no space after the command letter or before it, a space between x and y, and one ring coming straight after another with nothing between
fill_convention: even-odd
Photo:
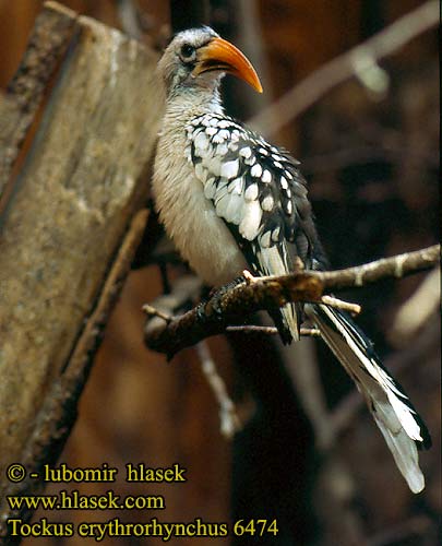
<instances>
[{"instance_id":1,"label":"pale bare wood face of the leaning trunk, without its dark bark","mask_svg":"<svg viewBox=\"0 0 442 546\"><path fill-rule=\"evenodd\" d=\"M48 10L53 9L53 4ZM75 20L0 226L0 475L23 460L134 212L162 116L156 55ZM10 487L0 483L0 496Z\"/></svg>"}]
</instances>

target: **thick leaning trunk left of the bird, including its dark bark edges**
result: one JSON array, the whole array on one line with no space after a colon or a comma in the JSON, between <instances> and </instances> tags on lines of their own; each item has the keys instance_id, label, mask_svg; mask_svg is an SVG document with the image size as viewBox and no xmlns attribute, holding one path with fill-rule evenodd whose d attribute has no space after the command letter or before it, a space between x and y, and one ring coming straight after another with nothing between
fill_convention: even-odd
<instances>
[{"instance_id":1,"label":"thick leaning trunk left of the bird, including its dark bark edges","mask_svg":"<svg viewBox=\"0 0 442 546\"><path fill-rule=\"evenodd\" d=\"M60 453L143 232L145 213L130 226L148 194L162 115L156 60L119 32L48 2L0 97L1 498L38 489L29 474ZM7 479L12 463L26 467L26 479ZM11 517L2 510L0 526Z\"/></svg>"}]
</instances>

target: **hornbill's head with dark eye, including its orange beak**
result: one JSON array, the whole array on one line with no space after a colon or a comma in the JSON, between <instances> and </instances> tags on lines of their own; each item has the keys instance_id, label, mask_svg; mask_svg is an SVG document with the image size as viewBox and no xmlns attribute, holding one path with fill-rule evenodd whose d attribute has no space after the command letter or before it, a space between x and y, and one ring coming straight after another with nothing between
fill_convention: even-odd
<instances>
[{"instance_id":1,"label":"hornbill's head with dark eye, including its orange beak","mask_svg":"<svg viewBox=\"0 0 442 546\"><path fill-rule=\"evenodd\" d=\"M225 73L244 80L262 93L260 79L246 56L208 26L177 34L158 69L168 93L189 87L216 88Z\"/></svg>"}]
</instances>

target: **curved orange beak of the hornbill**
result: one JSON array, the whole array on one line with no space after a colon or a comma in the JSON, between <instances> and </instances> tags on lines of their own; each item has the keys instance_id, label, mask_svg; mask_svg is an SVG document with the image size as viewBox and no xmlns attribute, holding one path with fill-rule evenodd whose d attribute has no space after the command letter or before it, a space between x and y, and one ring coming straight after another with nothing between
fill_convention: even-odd
<instances>
[{"instance_id":1,"label":"curved orange beak of the hornbill","mask_svg":"<svg viewBox=\"0 0 442 546\"><path fill-rule=\"evenodd\" d=\"M234 74L251 85L258 93L262 93L262 85L252 63L237 47L223 38L213 38L206 46L199 49L193 74L215 70Z\"/></svg>"}]
</instances>

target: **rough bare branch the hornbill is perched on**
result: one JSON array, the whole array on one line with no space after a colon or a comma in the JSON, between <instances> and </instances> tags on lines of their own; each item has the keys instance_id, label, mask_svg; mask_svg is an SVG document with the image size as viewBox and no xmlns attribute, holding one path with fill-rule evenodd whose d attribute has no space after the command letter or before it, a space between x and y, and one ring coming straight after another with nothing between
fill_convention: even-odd
<instances>
[{"instance_id":1,"label":"rough bare branch the hornbill is perched on","mask_svg":"<svg viewBox=\"0 0 442 546\"><path fill-rule=\"evenodd\" d=\"M251 277L234 288L215 294L180 317L168 321L155 319L145 329L146 345L171 358L181 348L211 335L225 332L228 325L243 324L244 317L259 310L282 307L289 301L323 301L323 293L360 287L384 278L431 269L439 262L440 245L383 258L338 271L297 271L285 276ZM250 276L250 274L249 274Z\"/></svg>"}]
</instances>

